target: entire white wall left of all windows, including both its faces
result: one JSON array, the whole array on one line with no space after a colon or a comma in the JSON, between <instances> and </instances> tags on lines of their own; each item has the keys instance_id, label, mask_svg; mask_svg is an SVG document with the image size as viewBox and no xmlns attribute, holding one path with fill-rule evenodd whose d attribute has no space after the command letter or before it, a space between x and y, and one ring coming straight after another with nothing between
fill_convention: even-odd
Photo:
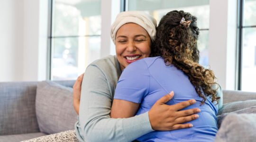
<instances>
[{"instance_id":1,"label":"entire white wall left of all windows, including both its faces","mask_svg":"<svg viewBox=\"0 0 256 142\"><path fill-rule=\"evenodd\" d=\"M46 79L47 12L48 0L0 1L0 82Z\"/></svg>"}]
</instances>

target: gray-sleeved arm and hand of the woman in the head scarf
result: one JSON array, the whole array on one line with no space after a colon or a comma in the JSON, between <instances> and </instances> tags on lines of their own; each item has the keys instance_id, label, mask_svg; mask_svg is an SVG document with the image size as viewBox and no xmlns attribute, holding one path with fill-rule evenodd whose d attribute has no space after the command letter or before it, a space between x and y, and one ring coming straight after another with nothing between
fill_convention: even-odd
<instances>
[{"instance_id":1,"label":"gray-sleeved arm and hand of the woman in the head scarf","mask_svg":"<svg viewBox=\"0 0 256 142\"><path fill-rule=\"evenodd\" d=\"M74 101L74 103L80 104L79 102L81 101L81 106L77 105L80 117L76 127L80 130L79 133L84 137L85 141L123 140L123 142L126 142L153 131L152 128L159 131L189 128L191 127L189 124L182 123L196 119L197 117L193 114L199 112L196 108L178 111L194 104L195 102L192 100L173 106L165 105L173 97L173 95L168 94L160 98L150 111L145 114L126 119L110 118L112 97L110 93L106 93L109 88L104 74L97 67L89 66L85 71L83 81L78 80L80 79L76 81L78 87L73 87L73 99L78 100ZM100 80L103 83L95 84ZM79 87L81 82L83 82L82 95L79 94L81 92L79 90L79 88L81 89ZM121 124L123 124L123 127L120 126Z\"/></svg>"}]
</instances>

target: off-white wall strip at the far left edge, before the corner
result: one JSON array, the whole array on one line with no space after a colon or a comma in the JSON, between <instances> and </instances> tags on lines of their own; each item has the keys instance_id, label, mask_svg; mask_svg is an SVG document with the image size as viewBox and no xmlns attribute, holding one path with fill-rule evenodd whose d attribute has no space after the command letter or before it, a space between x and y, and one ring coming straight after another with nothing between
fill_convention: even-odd
<instances>
[{"instance_id":1,"label":"off-white wall strip at the far left edge, before the corner","mask_svg":"<svg viewBox=\"0 0 256 142\"><path fill-rule=\"evenodd\" d=\"M0 81L22 80L23 0L0 1Z\"/></svg>"}]
</instances>

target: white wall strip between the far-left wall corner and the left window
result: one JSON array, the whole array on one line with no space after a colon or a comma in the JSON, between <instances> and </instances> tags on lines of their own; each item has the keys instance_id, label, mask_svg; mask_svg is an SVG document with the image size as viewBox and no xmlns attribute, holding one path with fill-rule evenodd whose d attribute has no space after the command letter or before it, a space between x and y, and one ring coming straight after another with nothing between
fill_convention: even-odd
<instances>
[{"instance_id":1,"label":"white wall strip between the far-left wall corner and the left window","mask_svg":"<svg viewBox=\"0 0 256 142\"><path fill-rule=\"evenodd\" d=\"M24 0L23 78L46 80L48 0Z\"/></svg>"}]
</instances>

